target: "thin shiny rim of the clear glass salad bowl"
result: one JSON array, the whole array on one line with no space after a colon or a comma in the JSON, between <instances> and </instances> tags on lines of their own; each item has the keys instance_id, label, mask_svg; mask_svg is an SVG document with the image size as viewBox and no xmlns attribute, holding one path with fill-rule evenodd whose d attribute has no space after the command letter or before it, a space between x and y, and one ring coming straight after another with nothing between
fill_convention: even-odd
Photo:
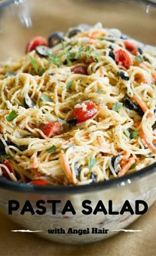
<instances>
[{"instance_id":1,"label":"thin shiny rim of the clear glass salad bowl","mask_svg":"<svg viewBox=\"0 0 156 256\"><path fill-rule=\"evenodd\" d=\"M15 3L16 0L6 0L2 3L0 2L0 9ZM127 1L127 0L126 0ZM156 7L156 2L150 0L134 0L137 3L145 3L147 5L151 4ZM19 1L20 2L20 1ZM124 2L124 1L123 1ZM37 185L28 185L19 182L13 182L10 180L6 180L5 178L0 178L0 189L3 188L5 190L13 190L16 192L27 192L32 194L81 194L87 192L93 192L98 190L106 190L108 188L113 188L115 186L126 186L128 183L134 182L139 178L143 178L155 172L156 162L150 164L149 166L138 170L136 172L132 172L130 174L126 174L120 178L112 178L111 180L104 180L102 182L86 184L81 186L37 186Z\"/></svg>"}]
</instances>

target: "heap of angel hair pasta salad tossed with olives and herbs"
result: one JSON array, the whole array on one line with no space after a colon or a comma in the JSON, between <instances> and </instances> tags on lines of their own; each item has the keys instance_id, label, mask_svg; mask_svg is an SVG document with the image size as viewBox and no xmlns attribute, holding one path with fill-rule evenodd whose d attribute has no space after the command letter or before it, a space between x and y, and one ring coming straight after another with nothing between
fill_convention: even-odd
<instances>
[{"instance_id":1,"label":"heap of angel hair pasta salad tossed with olives and herbs","mask_svg":"<svg viewBox=\"0 0 156 256\"><path fill-rule=\"evenodd\" d=\"M1 64L0 78L1 176L79 185L155 162L156 59L120 31L65 36Z\"/></svg>"}]
</instances>

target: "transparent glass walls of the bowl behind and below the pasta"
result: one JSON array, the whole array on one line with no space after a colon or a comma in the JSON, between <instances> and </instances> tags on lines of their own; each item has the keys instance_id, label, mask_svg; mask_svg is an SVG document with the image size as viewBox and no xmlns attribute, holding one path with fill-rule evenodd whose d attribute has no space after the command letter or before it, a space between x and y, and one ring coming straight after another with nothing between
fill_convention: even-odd
<instances>
[{"instance_id":1,"label":"transparent glass walls of the bowl behind and below the pasta","mask_svg":"<svg viewBox=\"0 0 156 256\"><path fill-rule=\"evenodd\" d=\"M15 4L13 4L15 2ZM30 16L29 16L30 15ZM26 42L40 35L47 37L52 31L67 31L79 23L120 29L132 38L155 46L156 42L155 1L102 1L102 0L38 0L0 2L0 58L1 61L23 56ZM37 230L38 235L62 243L92 243L106 239L120 229L134 222L139 215L94 215L83 214L82 203L91 201L93 210L102 200L108 210L108 200L112 200L113 210L120 211L129 200L135 210L136 200L144 200L151 206L156 198L156 163L132 174L97 184L83 186L32 186L0 179L0 209L11 220L25 229ZM19 210L9 214L9 200L19 202ZM32 212L22 215L22 207L30 201ZM43 200L45 214L37 214L36 202ZM48 200L60 200L56 214L52 214L54 204ZM70 200L76 214L61 214L65 203ZM17 204L17 202L14 202ZM13 206L15 206L15 204ZM34 211L34 212L33 212ZM48 229L65 229L65 233L49 233ZM67 233L68 229L87 229L90 233ZM108 233L91 233L92 229L108 229Z\"/></svg>"}]
</instances>

